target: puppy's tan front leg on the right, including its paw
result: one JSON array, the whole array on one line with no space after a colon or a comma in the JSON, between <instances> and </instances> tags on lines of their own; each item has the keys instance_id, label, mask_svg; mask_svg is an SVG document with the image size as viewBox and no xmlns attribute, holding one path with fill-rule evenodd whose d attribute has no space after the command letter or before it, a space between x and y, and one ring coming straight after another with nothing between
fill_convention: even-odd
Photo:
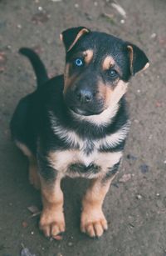
<instances>
[{"instance_id":1,"label":"puppy's tan front leg on the right, including its paw","mask_svg":"<svg viewBox=\"0 0 166 256\"><path fill-rule=\"evenodd\" d=\"M114 175L115 176L115 175ZM102 204L110 188L111 178L97 178L91 181L90 188L82 201L81 231L90 237L100 237L108 228Z\"/></svg>"}]
</instances>

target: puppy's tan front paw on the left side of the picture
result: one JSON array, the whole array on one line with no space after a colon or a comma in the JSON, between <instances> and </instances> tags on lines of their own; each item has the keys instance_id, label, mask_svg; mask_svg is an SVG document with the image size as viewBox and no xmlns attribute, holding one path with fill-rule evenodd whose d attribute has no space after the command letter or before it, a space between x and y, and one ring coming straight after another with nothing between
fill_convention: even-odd
<instances>
[{"instance_id":1,"label":"puppy's tan front paw on the left side of the picture","mask_svg":"<svg viewBox=\"0 0 166 256\"><path fill-rule=\"evenodd\" d=\"M64 213L60 211L43 211L39 228L46 237L56 237L57 234L65 232Z\"/></svg>"}]
</instances>

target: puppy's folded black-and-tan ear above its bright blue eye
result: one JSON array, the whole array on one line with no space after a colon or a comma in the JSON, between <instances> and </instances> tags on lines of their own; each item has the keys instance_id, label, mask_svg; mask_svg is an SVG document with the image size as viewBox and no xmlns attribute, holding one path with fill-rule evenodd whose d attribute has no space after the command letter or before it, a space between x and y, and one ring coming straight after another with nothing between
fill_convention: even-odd
<instances>
[{"instance_id":1,"label":"puppy's folded black-and-tan ear above its bright blue eye","mask_svg":"<svg viewBox=\"0 0 166 256\"><path fill-rule=\"evenodd\" d=\"M68 28L61 33L60 39L64 43L66 53L73 48L76 42L85 34L90 33L90 29L85 27Z\"/></svg>"}]
</instances>

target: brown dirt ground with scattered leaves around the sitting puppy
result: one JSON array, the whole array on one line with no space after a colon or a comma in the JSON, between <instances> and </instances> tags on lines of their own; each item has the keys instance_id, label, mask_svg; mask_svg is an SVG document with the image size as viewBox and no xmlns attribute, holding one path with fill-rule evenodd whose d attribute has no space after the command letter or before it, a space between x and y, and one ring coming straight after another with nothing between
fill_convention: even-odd
<instances>
[{"instance_id":1,"label":"brown dirt ground with scattered leaves around the sitting puppy","mask_svg":"<svg viewBox=\"0 0 166 256\"><path fill-rule=\"evenodd\" d=\"M117 3L117 2L116 2ZM166 255L166 3L163 0L0 1L0 255L36 256ZM109 230L100 239L80 232L83 180L66 179L66 233L46 239L38 229L40 193L27 181L27 159L11 141L8 123L18 100L36 87L32 67L18 55L22 46L40 53L50 76L63 72L59 34L84 25L115 34L144 49L150 68L132 79L128 100L131 129L120 174L105 198ZM22 254L23 255L23 254ZM27 254L26 254L27 255ZM24 255L25 256L25 255Z\"/></svg>"}]
</instances>

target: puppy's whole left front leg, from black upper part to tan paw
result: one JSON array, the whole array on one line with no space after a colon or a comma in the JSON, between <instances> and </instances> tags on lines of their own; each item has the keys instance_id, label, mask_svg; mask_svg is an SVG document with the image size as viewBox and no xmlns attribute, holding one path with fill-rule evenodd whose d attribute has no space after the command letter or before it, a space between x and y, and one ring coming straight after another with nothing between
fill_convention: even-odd
<instances>
[{"instance_id":1,"label":"puppy's whole left front leg, from black upper part to tan paw","mask_svg":"<svg viewBox=\"0 0 166 256\"><path fill-rule=\"evenodd\" d=\"M50 167L49 163L46 165L43 163L45 161L39 163L43 204L40 229L46 237L55 237L58 233L65 231L61 178L57 171Z\"/></svg>"}]
</instances>

